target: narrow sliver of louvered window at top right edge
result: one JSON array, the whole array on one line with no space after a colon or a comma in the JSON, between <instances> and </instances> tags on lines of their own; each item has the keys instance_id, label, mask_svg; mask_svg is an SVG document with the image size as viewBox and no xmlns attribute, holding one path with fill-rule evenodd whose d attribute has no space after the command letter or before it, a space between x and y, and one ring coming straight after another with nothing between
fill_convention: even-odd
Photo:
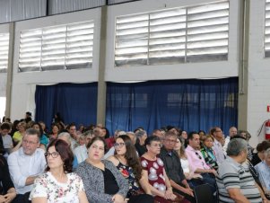
<instances>
[{"instance_id":1,"label":"narrow sliver of louvered window at top right edge","mask_svg":"<svg viewBox=\"0 0 270 203\"><path fill-rule=\"evenodd\" d=\"M266 0L265 57L270 57L270 0Z\"/></svg>"}]
</instances>

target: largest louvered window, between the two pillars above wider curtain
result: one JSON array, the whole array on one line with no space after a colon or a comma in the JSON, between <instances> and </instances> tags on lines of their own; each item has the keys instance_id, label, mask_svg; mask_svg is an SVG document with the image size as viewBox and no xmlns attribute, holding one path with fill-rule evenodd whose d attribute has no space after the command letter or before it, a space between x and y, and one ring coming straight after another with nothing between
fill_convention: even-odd
<instances>
[{"instance_id":1,"label":"largest louvered window, between the two pillars above wider curtain","mask_svg":"<svg viewBox=\"0 0 270 203\"><path fill-rule=\"evenodd\" d=\"M119 16L115 66L228 59L229 1Z\"/></svg>"}]
</instances>

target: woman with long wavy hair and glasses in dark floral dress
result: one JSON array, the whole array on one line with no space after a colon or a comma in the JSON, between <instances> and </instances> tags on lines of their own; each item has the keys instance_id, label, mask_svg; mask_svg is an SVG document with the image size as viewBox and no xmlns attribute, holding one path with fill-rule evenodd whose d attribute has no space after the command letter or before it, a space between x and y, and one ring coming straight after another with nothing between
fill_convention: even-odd
<instances>
[{"instance_id":1,"label":"woman with long wavy hair and glasses in dark floral dress","mask_svg":"<svg viewBox=\"0 0 270 203\"><path fill-rule=\"evenodd\" d=\"M115 155L108 159L117 166L118 170L128 180L129 190L126 195L126 198L129 199L128 202L153 202L149 183L142 176L142 167L130 137L119 136L114 146L116 149Z\"/></svg>"}]
</instances>

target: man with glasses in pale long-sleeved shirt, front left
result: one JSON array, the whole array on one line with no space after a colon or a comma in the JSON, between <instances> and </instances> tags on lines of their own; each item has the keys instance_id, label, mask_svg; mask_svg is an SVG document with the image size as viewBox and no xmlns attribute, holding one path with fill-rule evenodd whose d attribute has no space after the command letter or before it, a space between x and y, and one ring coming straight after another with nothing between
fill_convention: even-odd
<instances>
[{"instance_id":1,"label":"man with glasses in pale long-sleeved shirt, front left","mask_svg":"<svg viewBox=\"0 0 270 203\"><path fill-rule=\"evenodd\" d=\"M30 202L28 198L32 185L46 166L44 151L39 148L39 132L27 129L22 137L22 147L10 154L7 161L17 192L13 203Z\"/></svg>"}]
</instances>

